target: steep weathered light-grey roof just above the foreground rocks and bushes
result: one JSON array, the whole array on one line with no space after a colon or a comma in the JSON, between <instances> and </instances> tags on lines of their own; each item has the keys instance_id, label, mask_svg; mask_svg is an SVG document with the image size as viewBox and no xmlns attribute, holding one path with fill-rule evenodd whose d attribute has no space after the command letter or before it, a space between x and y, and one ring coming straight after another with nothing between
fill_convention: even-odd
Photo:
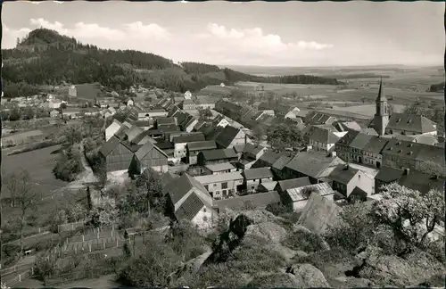
<instances>
[{"instance_id":1,"label":"steep weathered light-grey roof just above the foreground rocks and bushes","mask_svg":"<svg viewBox=\"0 0 446 289\"><path fill-rule=\"evenodd\" d=\"M311 194L297 223L315 233L324 234L328 227L342 222L339 218L341 211L343 209L335 202L319 194Z\"/></svg>"}]
</instances>

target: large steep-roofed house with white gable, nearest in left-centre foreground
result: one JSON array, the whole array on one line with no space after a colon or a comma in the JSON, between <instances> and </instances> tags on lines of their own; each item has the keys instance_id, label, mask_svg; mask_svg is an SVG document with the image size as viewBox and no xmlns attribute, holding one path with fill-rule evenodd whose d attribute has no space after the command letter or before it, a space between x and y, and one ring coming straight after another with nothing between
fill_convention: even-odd
<instances>
[{"instance_id":1,"label":"large steep-roofed house with white gable, nearest in left-centre foreground","mask_svg":"<svg viewBox=\"0 0 446 289\"><path fill-rule=\"evenodd\" d=\"M186 219L200 228L211 225L214 214L212 197L196 179L184 174L169 186L168 210L172 219Z\"/></svg>"}]
</instances>

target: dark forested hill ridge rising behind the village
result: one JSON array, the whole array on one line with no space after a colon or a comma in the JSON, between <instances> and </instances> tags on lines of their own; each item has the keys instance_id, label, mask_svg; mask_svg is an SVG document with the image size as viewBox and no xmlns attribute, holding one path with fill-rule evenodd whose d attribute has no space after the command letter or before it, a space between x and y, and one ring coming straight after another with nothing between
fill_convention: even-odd
<instances>
[{"instance_id":1,"label":"dark forested hill ridge rising behind the village","mask_svg":"<svg viewBox=\"0 0 446 289\"><path fill-rule=\"evenodd\" d=\"M2 50L4 96L33 95L38 86L100 82L105 87L126 89L133 84L165 90L197 91L209 85L237 81L287 84L331 84L335 78L307 75L259 77L216 65L182 62L135 50L101 49L85 45L54 30L35 29L17 46Z\"/></svg>"}]
</instances>

